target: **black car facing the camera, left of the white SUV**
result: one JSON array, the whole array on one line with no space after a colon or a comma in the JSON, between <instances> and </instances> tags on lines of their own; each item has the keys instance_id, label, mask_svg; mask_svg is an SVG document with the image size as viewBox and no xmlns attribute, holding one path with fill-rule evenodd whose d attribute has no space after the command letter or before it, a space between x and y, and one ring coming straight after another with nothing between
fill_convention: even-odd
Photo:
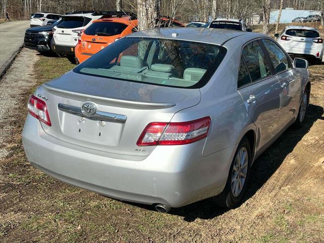
<instances>
[{"instance_id":1,"label":"black car facing the camera, left of the white SUV","mask_svg":"<svg viewBox=\"0 0 324 243\"><path fill-rule=\"evenodd\" d=\"M32 27L26 30L24 44L26 48L37 50L39 53L52 52L52 28L58 24L57 20L52 25Z\"/></svg>"}]
</instances>

